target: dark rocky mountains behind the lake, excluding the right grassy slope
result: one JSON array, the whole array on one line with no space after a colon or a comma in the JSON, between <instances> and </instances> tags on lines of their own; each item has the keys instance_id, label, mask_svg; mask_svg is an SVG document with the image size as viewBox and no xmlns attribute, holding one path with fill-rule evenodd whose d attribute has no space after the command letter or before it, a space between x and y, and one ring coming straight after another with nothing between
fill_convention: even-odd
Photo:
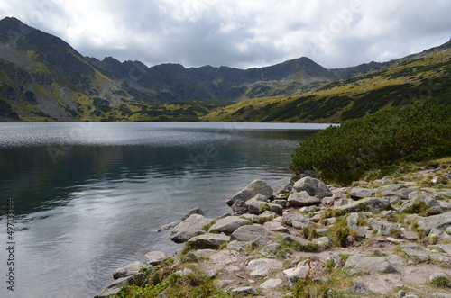
<instances>
[{"instance_id":1,"label":"dark rocky mountains behind the lake, excluding the right grassy slope","mask_svg":"<svg viewBox=\"0 0 451 298\"><path fill-rule=\"evenodd\" d=\"M302 95L396 63L327 69L301 57L264 68L147 67L84 57L59 37L6 17L0 20L0 121L198 121L219 106Z\"/></svg>"}]
</instances>

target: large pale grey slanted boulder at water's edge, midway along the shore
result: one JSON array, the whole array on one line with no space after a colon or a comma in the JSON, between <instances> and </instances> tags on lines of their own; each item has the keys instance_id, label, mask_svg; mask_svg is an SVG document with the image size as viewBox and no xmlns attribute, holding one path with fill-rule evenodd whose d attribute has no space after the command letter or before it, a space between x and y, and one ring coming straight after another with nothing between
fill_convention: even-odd
<instances>
[{"instance_id":1,"label":"large pale grey slanted boulder at water's edge, midway along the shore","mask_svg":"<svg viewBox=\"0 0 451 298\"><path fill-rule=\"evenodd\" d=\"M185 221L181 221L170 232L170 239L176 243L182 243L194 236L204 234L202 227L210 223L203 215L192 214Z\"/></svg>"}]
</instances>

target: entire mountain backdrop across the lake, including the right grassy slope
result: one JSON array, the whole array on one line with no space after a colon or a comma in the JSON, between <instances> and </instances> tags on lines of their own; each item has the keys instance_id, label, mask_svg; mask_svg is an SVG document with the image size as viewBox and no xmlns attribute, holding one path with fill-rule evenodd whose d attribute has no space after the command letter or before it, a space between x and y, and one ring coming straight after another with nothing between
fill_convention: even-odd
<instances>
[{"instance_id":1,"label":"entire mountain backdrop across the lake, including the right grassy slope","mask_svg":"<svg viewBox=\"0 0 451 298\"><path fill-rule=\"evenodd\" d=\"M399 90L421 88L430 76L442 90L429 89L449 92L450 45L353 68L327 69L305 57L265 68L149 68L84 57L60 38L6 17L0 20L0 121L341 122L393 105ZM382 104L374 104L373 91L381 88ZM372 106L361 103L365 96ZM362 111L352 112L359 106Z\"/></svg>"}]
</instances>

